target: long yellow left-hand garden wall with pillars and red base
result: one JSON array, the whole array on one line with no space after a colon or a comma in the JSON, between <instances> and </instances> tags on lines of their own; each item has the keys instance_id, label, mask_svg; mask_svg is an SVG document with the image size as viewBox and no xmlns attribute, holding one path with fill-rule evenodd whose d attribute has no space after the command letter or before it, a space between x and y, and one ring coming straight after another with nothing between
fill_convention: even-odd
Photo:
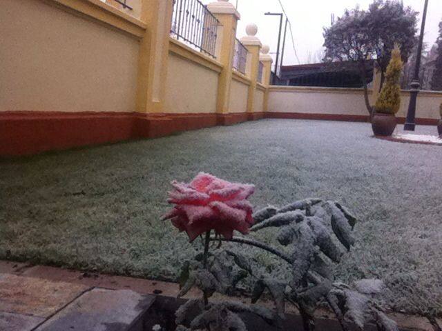
<instances>
[{"instance_id":1,"label":"long yellow left-hand garden wall with pillars and red base","mask_svg":"<svg viewBox=\"0 0 442 331\"><path fill-rule=\"evenodd\" d=\"M1 1L0 156L263 117L247 103L250 75L232 77L236 35L227 32L240 18L233 5L209 6L220 22L209 56L171 38L173 0L126 3L131 8L113 0ZM261 46L250 38L255 55L245 64L258 70Z\"/></svg>"}]
</instances>

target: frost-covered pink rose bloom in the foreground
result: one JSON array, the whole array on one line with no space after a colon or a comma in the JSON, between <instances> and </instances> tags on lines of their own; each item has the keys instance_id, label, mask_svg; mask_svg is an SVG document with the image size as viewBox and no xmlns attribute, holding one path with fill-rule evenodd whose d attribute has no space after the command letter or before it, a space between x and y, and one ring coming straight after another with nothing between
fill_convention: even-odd
<instances>
[{"instance_id":1,"label":"frost-covered pink rose bloom in the foreground","mask_svg":"<svg viewBox=\"0 0 442 331\"><path fill-rule=\"evenodd\" d=\"M175 207L163 219L186 231L190 241L209 230L226 239L232 238L233 230L249 232L253 218L247 198L255 190L253 185L230 183L204 172L189 184L173 181L172 185L168 202Z\"/></svg>"}]
</instances>

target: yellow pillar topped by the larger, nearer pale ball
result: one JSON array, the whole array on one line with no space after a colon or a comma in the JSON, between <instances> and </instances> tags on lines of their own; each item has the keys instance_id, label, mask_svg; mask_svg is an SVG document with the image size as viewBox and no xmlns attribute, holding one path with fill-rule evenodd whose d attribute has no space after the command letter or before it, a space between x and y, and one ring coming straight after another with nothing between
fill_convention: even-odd
<instances>
[{"instance_id":1,"label":"yellow pillar topped by the larger, nearer pale ball","mask_svg":"<svg viewBox=\"0 0 442 331\"><path fill-rule=\"evenodd\" d=\"M262 47L260 39L255 37L257 32L258 27L256 24L249 24L246 28L247 36L241 38L242 44L249 51L246 70L247 77L249 77L251 80L249 94L247 95L247 112L249 114L253 113L255 108L255 90L258 80L258 68L260 64L260 50Z\"/></svg>"}]
</instances>

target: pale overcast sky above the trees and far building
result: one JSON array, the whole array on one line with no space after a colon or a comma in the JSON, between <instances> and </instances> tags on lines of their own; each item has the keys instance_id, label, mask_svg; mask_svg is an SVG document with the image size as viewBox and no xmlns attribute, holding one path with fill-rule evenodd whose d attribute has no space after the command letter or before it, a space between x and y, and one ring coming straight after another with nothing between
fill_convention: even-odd
<instances>
[{"instance_id":1,"label":"pale overcast sky above the trees and far building","mask_svg":"<svg viewBox=\"0 0 442 331\"><path fill-rule=\"evenodd\" d=\"M207 4L212 0L202 0L202 2ZM230 0L230 2L236 5L236 0ZM351 9L357 5L366 9L372 0L281 0L281 2L291 21L299 60L301 63L307 63L309 54L311 54L311 60L320 52L324 43L323 27L330 25L332 13L340 17L346 8ZM403 0L403 2L417 10L420 13L419 20L421 20L424 0ZM245 27L248 23L256 23L257 37L263 44L270 46L270 52L276 52L279 18L264 16L264 13L281 12L278 0L238 0L238 11L241 14L241 20L238 22L238 37L245 35ZM425 42L430 45L436 41L441 20L442 0L429 0ZM289 32L287 32L284 64L298 64Z\"/></svg>"}]
</instances>

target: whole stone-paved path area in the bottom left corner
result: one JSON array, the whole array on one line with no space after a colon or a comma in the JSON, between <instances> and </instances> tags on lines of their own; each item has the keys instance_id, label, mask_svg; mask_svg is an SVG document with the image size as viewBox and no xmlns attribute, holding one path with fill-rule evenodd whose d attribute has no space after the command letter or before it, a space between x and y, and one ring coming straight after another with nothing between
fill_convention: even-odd
<instances>
[{"instance_id":1,"label":"whole stone-paved path area in the bottom left corner","mask_svg":"<svg viewBox=\"0 0 442 331\"><path fill-rule=\"evenodd\" d=\"M154 300L129 289L0 273L0 330L142 331Z\"/></svg>"}]
</instances>

